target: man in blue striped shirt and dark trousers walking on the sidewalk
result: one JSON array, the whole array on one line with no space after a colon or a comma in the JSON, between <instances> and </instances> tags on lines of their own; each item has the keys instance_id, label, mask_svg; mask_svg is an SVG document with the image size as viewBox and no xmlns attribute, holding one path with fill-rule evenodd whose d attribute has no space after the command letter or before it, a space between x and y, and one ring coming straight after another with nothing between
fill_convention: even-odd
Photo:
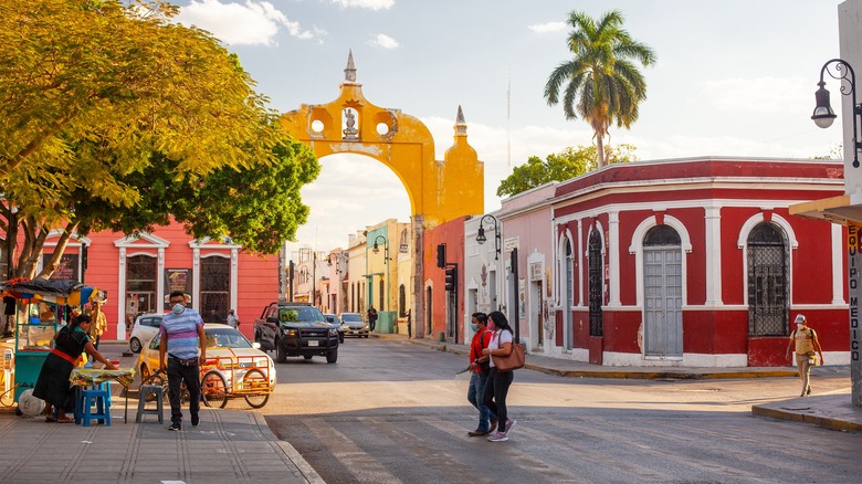
<instances>
[{"instance_id":1,"label":"man in blue striped shirt and dark trousers walking on the sidewalk","mask_svg":"<svg viewBox=\"0 0 862 484\"><path fill-rule=\"evenodd\" d=\"M200 365L207 360L207 336L203 333L203 319L197 311L186 307L186 295L181 291L170 293L168 302L171 312L162 316L159 327L159 368L167 368L168 372L171 422L168 430L177 431L182 429L180 385L183 381L189 390L191 424L197 425L200 421Z\"/></svg>"}]
</instances>

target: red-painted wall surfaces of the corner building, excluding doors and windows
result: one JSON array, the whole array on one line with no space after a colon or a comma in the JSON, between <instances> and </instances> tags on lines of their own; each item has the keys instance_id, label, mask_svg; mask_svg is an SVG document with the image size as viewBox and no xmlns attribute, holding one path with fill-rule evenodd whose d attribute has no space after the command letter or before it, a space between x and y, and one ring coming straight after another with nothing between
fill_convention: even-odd
<instances>
[{"instance_id":1,"label":"red-painted wall surfaces of the corner building, excluding doors and windows","mask_svg":"<svg viewBox=\"0 0 862 484\"><path fill-rule=\"evenodd\" d=\"M578 238L578 221L569 220L557 228L559 238L566 230L575 238L572 252L575 257L575 304L581 301L584 306L572 311L574 336L576 348L587 348L590 361L597 362L596 351L640 353L637 344L638 329L642 320L642 312L614 311L607 306L609 295L607 285L602 311L603 337L589 336L588 270L584 252L587 250L590 228L598 221L605 239L603 263L607 265L610 254L608 209L612 207L619 214L619 290L623 306L637 305L637 257L629 252L637 228L652 217L677 219L688 234L691 251L685 257L686 308L683 311L683 350L690 354L745 354L749 366L784 366L787 337L749 337L748 336L748 302L745 299L747 269L744 261L744 250L738 246L739 233L751 217L763 214L769 221L780 217L790 224L798 246L791 249L791 273L789 280L792 294L790 297L790 317L803 312L821 335L823 349L829 351L845 351L849 338L847 309L833 306L832 295L832 238L829 223L792 217L787 208L772 208L779 204L771 200L797 200L799 202L822 199L842 192L839 183L822 185L813 188L799 180L834 179L842 177L841 164L837 162L798 162L798 161L747 161L747 160L673 160L645 164L614 165L597 170L557 188L557 206L554 217L566 218L576 213L590 213L580 219L580 244ZM750 177L750 185L738 182L737 178ZM788 178L786 183L778 183L781 177ZM719 180L716 180L719 178ZM763 181L770 178L771 181ZM679 180L676 180L679 179ZM670 183L666 190L650 190L629 188L629 183L644 187L645 180L656 183ZM623 185L624 183L624 185ZM770 185L771 183L771 185ZM775 189L777 188L777 189ZM826 189L823 189L826 188ZM706 265L707 260L715 254L706 252L705 210L701 207L676 208L679 201L685 200L730 200L721 207L721 297L727 308L696 308L706 302ZM653 211L639 209L639 204L666 202L664 210ZM748 206L746 207L746 202ZM793 203L793 202L791 202ZM595 215L592 214L595 213ZM792 241L789 241L792 242ZM578 253L580 252L580 253ZM842 253L844 265L847 254ZM578 286L579 275L584 286ZM563 275L558 276L560 280ZM844 298L847 288L843 288ZM580 296L580 297L578 297ZM565 295L559 296L565 301ZM797 306L818 305L823 308L797 309ZM735 307L734 307L735 306ZM743 308L740 308L743 306ZM567 309L564 309L567 311ZM557 313L556 345L564 345L564 314ZM597 339L600 339L597 340Z\"/></svg>"}]
</instances>

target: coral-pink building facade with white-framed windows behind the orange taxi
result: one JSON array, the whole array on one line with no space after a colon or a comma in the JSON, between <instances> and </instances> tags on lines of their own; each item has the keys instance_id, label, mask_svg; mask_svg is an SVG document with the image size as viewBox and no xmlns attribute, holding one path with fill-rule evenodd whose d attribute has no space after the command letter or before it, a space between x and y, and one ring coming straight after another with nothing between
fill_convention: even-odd
<instances>
[{"instance_id":1,"label":"coral-pink building facade with white-framed windows behind the orange taxi","mask_svg":"<svg viewBox=\"0 0 862 484\"><path fill-rule=\"evenodd\" d=\"M48 239L46 256L57 238L52 233ZM250 338L254 318L278 301L276 255L249 254L227 238L195 241L179 223L137 238L115 232L73 238L52 277L76 278L107 291L106 340L125 340L138 314L166 312L166 296L175 290L191 296L190 306L206 322L223 323L228 311L235 309L240 330Z\"/></svg>"}]
</instances>

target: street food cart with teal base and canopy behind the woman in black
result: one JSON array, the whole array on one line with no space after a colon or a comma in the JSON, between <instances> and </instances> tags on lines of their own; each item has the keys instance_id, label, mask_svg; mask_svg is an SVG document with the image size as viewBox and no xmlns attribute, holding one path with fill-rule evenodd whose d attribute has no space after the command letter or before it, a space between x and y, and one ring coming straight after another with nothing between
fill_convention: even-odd
<instances>
[{"instance_id":1,"label":"street food cart with teal base and canopy behind the woman in black","mask_svg":"<svg viewBox=\"0 0 862 484\"><path fill-rule=\"evenodd\" d=\"M14 401L35 387L54 335L69 319L69 312L104 292L77 281L13 280L0 284L3 297L15 299Z\"/></svg>"}]
</instances>

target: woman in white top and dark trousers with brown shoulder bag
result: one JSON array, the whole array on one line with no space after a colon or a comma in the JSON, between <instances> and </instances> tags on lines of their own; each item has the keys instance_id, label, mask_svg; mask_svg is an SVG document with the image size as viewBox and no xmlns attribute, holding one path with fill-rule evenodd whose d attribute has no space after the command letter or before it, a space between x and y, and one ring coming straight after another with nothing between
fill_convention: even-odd
<instances>
[{"instance_id":1,"label":"woman in white top and dark trousers with brown shoulder bag","mask_svg":"<svg viewBox=\"0 0 862 484\"><path fill-rule=\"evenodd\" d=\"M508 412L506 411L506 394L515 372L500 371L494 366L494 357L512 354L514 335L512 326L508 325L508 320L503 313L495 311L488 314L487 317L487 328L492 332L491 343L487 345L487 348L482 349L482 354L491 356L491 375L488 375L487 383L485 385L483 402L492 413L497 415L498 422L497 431L488 435L487 440L491 442L505 442L508 440L508 434L516 423L515 420L508 418Z\"/></svg>"}]
</instances>

